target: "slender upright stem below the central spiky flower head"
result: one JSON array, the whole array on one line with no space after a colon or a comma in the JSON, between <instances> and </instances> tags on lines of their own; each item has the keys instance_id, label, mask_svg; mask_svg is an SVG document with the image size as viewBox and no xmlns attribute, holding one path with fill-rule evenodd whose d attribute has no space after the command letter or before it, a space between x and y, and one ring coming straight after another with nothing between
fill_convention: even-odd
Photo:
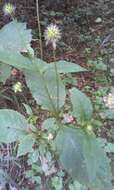
<instances>
[{"instance_id":1,"label":"slender upright stem below the central spiky flower head","mask_svg":"<svg viewBox=\"0 0 114 190\"><path fill-rule=\"evenodd\" d=\"M56 63L56 56L55 50L53 49L53 58L54 58L54 67L55 67L55 74L56 74L56 83L57 83L57 112L59 112L59 75Z\"/></svg>"}]
</instances>

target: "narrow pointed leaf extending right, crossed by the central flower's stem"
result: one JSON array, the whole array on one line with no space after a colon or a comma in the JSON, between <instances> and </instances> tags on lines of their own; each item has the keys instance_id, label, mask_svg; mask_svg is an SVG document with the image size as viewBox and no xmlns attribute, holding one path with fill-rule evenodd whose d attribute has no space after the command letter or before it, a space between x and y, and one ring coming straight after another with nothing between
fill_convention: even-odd
<instances>
[{"instance_id":1,"label":"narrow pointed leaf extending right, crossed by the central flower's stem","mask_svg":"<svg viewBox=\"0 0 114 190\"><path fill-rule=\"evenodd\" d=\"M75 72L87 71L85 68L81 67L76 63L64 60L57 61L56 65L59 73L75 73ZM54 62L50 63L47 69L49 69L50 71L54 70Z\"/></svg>"}]
</instances>

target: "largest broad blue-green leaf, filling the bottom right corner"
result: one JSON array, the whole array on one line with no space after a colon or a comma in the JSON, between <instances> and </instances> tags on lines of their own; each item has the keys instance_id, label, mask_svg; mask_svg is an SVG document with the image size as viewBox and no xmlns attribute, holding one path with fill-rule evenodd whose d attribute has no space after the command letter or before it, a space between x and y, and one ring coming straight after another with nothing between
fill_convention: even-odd
<instances>
[{"instance_id":1,"label":"largest broad blue-green leaf, filling the bottom right corner","mask_svg":"<svg viewBox=\"0 0 114 190\"><path fill-rule=\"evenodd\" d=\"M109 160L97 139L81 129L62 129L56 137L60 162L80 184L92 190L111 190Z\"/></svg>"}]
</instances>

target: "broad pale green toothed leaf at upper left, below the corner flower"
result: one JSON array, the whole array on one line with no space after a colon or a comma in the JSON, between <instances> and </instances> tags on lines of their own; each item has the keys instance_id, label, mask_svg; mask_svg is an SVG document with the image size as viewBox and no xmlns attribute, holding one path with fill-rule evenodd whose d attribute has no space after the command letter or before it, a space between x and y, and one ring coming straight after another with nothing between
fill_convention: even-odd
<instances>
[{"instance_id":1,"label":"broad pale green toothed leaf at upper left, below the corner flower","mask_svg":"<svg viewBox=\"0 0 114 190\"><path fill-rule=\"evenodd\" d=\"M0 50L3 51L20 52L30 45L31 40L31 30L26 29L26 23L14 20L0 30Z\"/></svg>"}]
</instances>

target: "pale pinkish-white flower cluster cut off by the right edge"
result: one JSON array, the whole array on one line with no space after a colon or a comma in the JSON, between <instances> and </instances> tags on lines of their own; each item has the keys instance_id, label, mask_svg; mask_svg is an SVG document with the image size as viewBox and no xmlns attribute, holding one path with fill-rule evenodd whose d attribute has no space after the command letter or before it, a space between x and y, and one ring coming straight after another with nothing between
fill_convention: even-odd
<instances>
[{"instance_id":1,"label":"pale pinkish-white flower cluster cut off by the right edge","mask_svg":"<svg viewBox=\"0 0 114 190\"><path fill-rule=\"evenodd\" d=\"M108 107L109 109L114 108L114 95L112 93L109 93L107 96L103 97L103 100L106 107Z\"/></svg>"}]
</instances>

